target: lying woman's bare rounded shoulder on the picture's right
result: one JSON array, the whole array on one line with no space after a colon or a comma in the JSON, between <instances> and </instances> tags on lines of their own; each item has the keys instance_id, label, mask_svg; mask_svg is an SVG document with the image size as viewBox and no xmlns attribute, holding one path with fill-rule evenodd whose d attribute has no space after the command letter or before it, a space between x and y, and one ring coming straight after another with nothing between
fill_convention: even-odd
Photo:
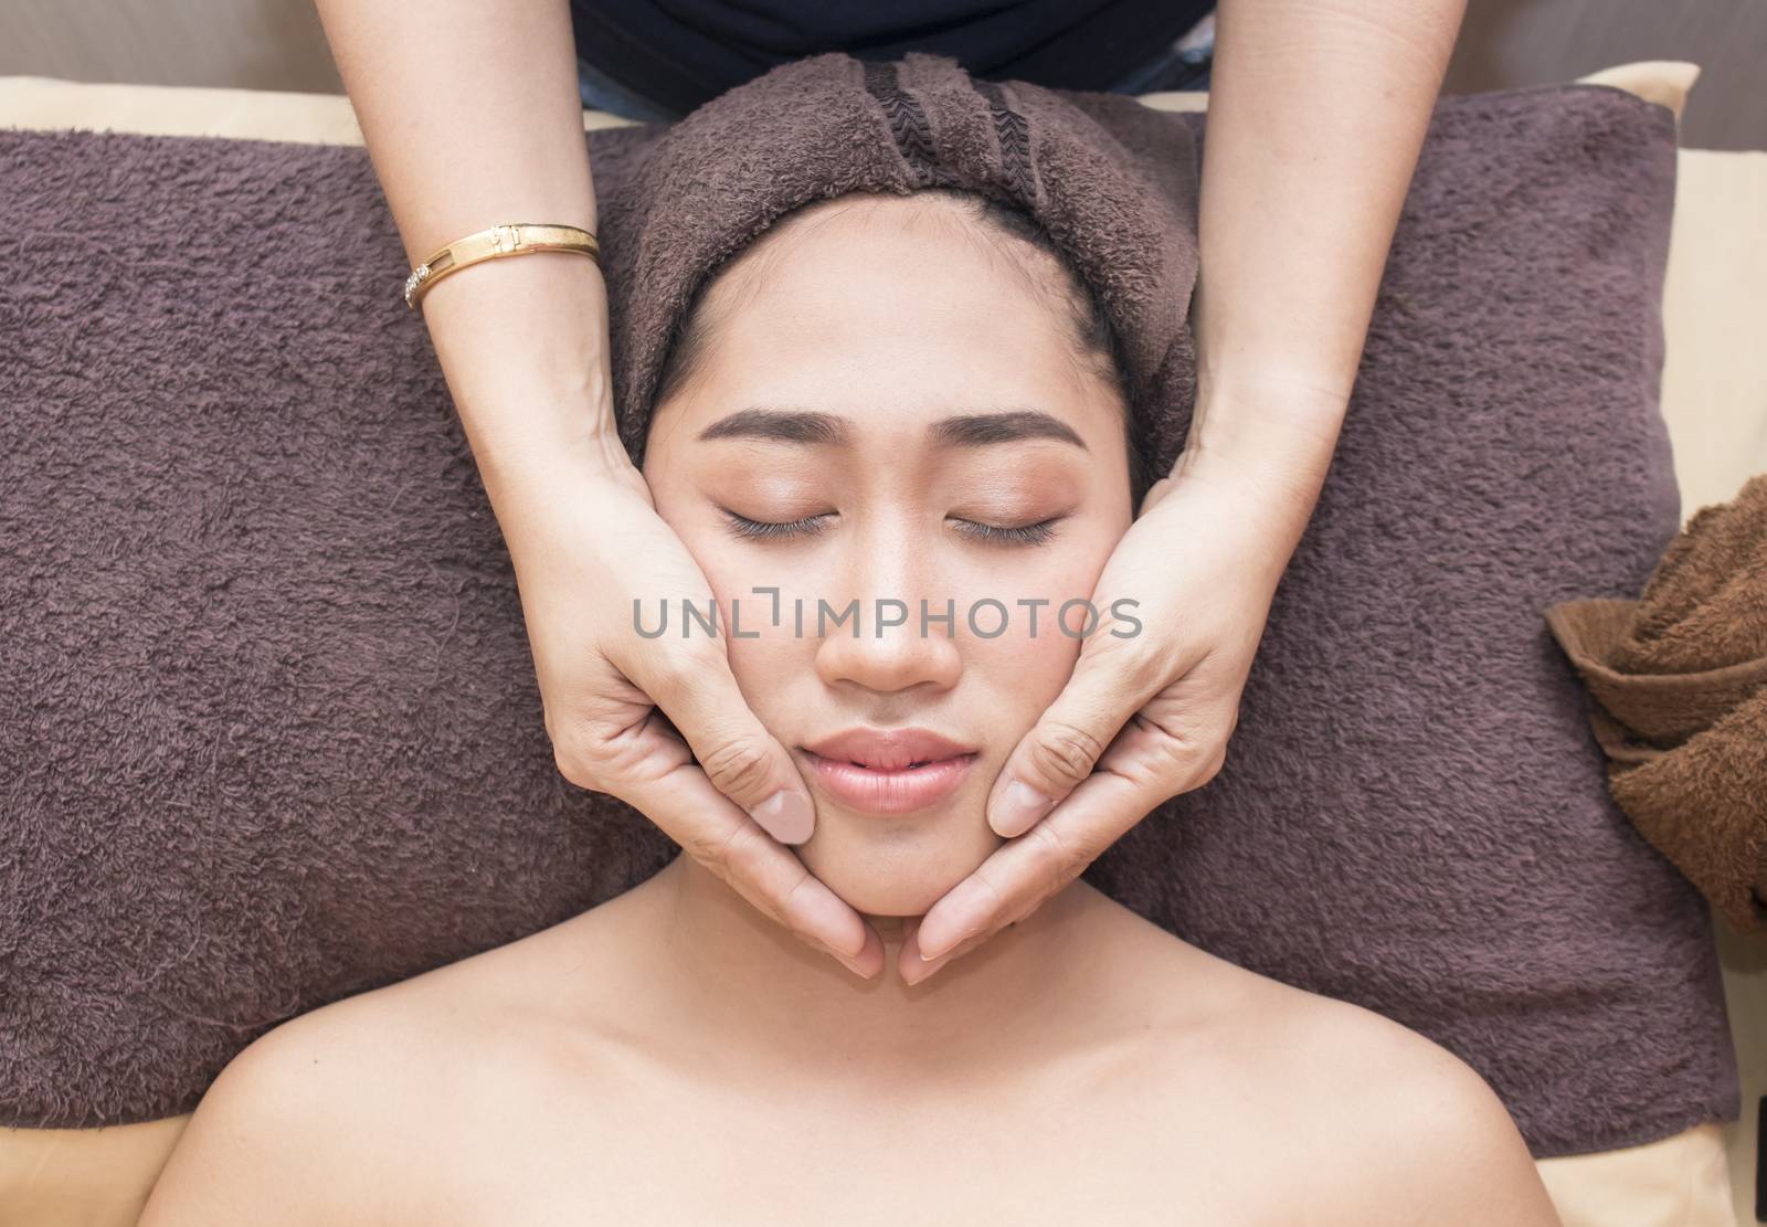
<instances>
[{"instance_id":1,"label":"lying woman's bare rounded shoulder on the picture's right","mask_svg":"<svg viewBox=\"0 0 1767 1227\"><path fill-rule=\"evenodd\" d=\"M1133 916L1133 914L1129 914ZM1239 967L1134 916L1101 949L1161 1018L1131 1048L1175 1124L1209 1101L1209 1137L1248 1186L1320 1223L1557 1227L1509 1110L1461 1057L1373 1010ZM1147 974L1152 969L1154 974ZM1131 1015L1133 1017L1133 1015ZM1232 1151L1228 1158L1226 1151Z\"/></svg>"}]
</instances>

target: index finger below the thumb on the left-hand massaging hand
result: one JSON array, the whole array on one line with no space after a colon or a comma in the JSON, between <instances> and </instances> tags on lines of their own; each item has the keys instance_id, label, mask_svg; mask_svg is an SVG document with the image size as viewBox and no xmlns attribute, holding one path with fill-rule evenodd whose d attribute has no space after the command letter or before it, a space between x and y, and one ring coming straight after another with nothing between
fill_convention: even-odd
<instances>
[{"instance_id":1,"label":"index finger below the thumb on the left-hand massaging hand","mask_svg":"<svg viewBox=\"0 0 1767 1227\"><path fill-rule=\"evenodd\" d=\"M677 743L679 746L679 743ZM652 755L652 762L661 751ZM643 812L700 865L728 882L763 916L825 948L862 976L884 967L882 941L841 896L687 760L626 774L618 796Z\"/></svg>"}]
</instances>

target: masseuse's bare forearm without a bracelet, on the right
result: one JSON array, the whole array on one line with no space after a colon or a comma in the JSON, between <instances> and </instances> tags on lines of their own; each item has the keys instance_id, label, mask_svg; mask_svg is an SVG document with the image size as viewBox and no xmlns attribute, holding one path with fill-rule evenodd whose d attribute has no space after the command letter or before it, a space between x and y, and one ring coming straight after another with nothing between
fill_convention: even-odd
<instances>
[{"instance_id":1,"label":"masseuse's bare forearm without a bracelet, on the right","mask_svg":"<svg viewBox=\"0 0 1767 1227\"><path fill-rule=\"evenodd\" d=\"M1463 7L1221 0L1193 461L1262 470L1311 509Z\"/></svg>"}]
</instances>

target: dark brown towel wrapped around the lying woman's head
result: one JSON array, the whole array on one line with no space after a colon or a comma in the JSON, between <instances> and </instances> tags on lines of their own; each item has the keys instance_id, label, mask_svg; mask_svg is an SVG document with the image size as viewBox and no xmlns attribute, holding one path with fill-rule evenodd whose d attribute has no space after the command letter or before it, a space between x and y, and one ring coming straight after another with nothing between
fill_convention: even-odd
<instances>
[{"instance_id":1,"label":"dark brown towel wrapped around the lying woman's head","mask_svg":"<svg viewBox=\"0 0 1767 1227\"><path fill-rule=\"evenodd\" d=\"M597 184L599 184L597 175ZM643 465L663 366L716 269L781 216L848 193L974 191L1037 221L1103 308L1131 444L1159 474L1194 394L1196 143L1117 94L977 81L951 57L830 51L783 64L661 131L601 200L620 438Z\"/></svg>"}]
</instances>

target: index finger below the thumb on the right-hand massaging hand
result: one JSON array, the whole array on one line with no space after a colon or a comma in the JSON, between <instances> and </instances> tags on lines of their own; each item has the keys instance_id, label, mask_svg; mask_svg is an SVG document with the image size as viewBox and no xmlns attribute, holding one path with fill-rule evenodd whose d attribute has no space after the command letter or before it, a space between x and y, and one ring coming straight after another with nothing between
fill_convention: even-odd
<instances>
[{"instance_id":1,"label":"index finger below the thumb on the right-hand massaging hand","mask_svg":"<svg viewBox=\"0 0 1767 1227\"><path fill-rule=\"evenodd\" d=\"M921 918L915 953L942 958L1030 916L1159 804L1143 773L1097 771L1027 835L1005 843ZM905 944L906 946L906 944Z\"/></svg>"}]
</instances>

